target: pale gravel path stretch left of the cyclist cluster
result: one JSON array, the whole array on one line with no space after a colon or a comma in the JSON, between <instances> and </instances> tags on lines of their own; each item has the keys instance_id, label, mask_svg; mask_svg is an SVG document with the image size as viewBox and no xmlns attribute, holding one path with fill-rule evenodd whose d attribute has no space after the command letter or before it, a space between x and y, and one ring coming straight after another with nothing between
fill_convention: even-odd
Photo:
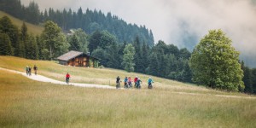
<instances>
[{"instance_id":1,"label":"pale gravel path stretch left of the cyclist cluster","mask_svg":"<svg viewBox=\"0 0 256 128\"><path fill-rule=\"evenodd\" d=\"M26 73L22 73L19 71L15 71L15 70L10 70L10 69L6 69L6 68L2 68L0 67L1 70L5 70L5 71L9 71L12 73L19 73L22 74L23 76L25 76L28 79L33 79L33 80L37 80L40 82L49 82L52 84L64 84L64 85L73 85L73 86L80 86L80 87L88 87L88 88L102 88L102 89L115 89L115 87L113 86L109 86L109 85L99 85L99 84L80 84L80 83L69 83L67 84L66 82L63 81L58 81L55 79L49 79L47 77L44 77L42 75L35 75L32 73L31 76L26 75Z\"/></svg>"}]
</instances>

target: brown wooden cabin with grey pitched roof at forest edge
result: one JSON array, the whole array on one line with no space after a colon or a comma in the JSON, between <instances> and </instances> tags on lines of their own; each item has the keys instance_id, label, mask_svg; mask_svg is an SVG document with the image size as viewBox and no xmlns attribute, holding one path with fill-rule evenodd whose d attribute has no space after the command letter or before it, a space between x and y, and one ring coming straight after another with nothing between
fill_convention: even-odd
<instances>
[{"instance_id":1,"label":"brown wooden cabin with grey pitched roof at forest edge","mask_svg":"<svg viewBox=\"0 0 256 128\"><path fill-rule=\"evenodd\" d=\"M74 50L59 56L57 59L61 65L73 67L98 67L99 63L99 59L96 57Z\"/></svg>"}]
</instances>

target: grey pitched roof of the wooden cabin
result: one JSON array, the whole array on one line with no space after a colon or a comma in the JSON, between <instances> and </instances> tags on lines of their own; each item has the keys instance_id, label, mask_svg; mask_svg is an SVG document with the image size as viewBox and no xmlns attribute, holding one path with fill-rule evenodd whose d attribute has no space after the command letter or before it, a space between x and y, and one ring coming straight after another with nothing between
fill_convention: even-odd
<instances>
[{"instance_id":1,"label":"grey pitched roof of the wooden cabin","mask_svg":"<svg viewBox=\"0 0 256 128\"><path fill-rule=\"evenodd\" d=\"M67 52L67 53L64 54L64 55L59 56L57 59L58 59L58 60L61 60L61 61L69 61L69 60L71 60L71 59L73 59L73 58L75 58L75 57L77 57L77 56L79 56L79 55L83 55L83 54L84 54L83 52L71 50L71 51ZM84 55L86 55L86 54L84 54ZM92 56L90 56L90 55L87 55L87 56L99 60L99 59L96 58L96 57L92 57Z\"/></svg>"}]
</instances>

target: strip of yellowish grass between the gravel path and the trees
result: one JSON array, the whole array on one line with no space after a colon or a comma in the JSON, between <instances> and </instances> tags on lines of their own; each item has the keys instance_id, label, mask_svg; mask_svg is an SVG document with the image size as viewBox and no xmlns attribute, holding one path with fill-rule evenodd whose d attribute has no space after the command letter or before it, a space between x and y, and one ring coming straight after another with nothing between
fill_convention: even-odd
<instances>
[{"instance_id":1,"label":"strip of yellowish grass between the gravel path and the trees","mask_svg":"<svg viewBox=\"0 0 256 128\"><path fill-rule=\"evenodd\" d=\"M71 82L76 83L89 83L89 84L109 84L115 85L115 78L119 76L122 80L125 76L140 77L143 81L143 89L147 88L148 77L154 79L154 90L168 90L168 91L183 91L191 93L204 93L204 94L224 94L226 92L207 89L202 86L185 84L170 79L161 79L154 76L149 76L141 73L127 73L123 70L116 70L110 68L87 68L87 67L67 67L58 64L56 61L34 61L14 56L1 56L0 67L25 72L25 67L33 65L38 66L38 73L47 76L51 79L64 81L66 73L71 74ZM237 93L229 93L228 95L240 95Z\"/></svg>"}]
</instances>

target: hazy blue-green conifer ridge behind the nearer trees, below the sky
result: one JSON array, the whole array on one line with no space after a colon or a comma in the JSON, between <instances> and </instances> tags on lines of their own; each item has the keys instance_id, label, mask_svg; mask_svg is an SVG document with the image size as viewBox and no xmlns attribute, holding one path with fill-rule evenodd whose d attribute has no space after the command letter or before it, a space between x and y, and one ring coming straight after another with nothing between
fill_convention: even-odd
<instances>
[{"instance_id":1,"label":"hazy blue-green conifer ridge behind the nearer trees, below the sky","mask_svg":"<svg viewBox=\"0 0 256 128\"><path fill-rule=\"evenodd\" d=\"M85 11L79 8L77 11L72 9L55 10L49 8L41 12L38 4L30 3L27 7L20 3L20 0L1 0L0 9L10 15L14 15L20 20L25 20L32 24L40 24L46 20L53 20L61 26L63 31L72 28L82 28L84 32L91 34L96 30L107 30L112 33L119 42L133 42L137 36L149 46L154 45L154 36L146 26L128 24L118 16L108 13L104 15L101 10ZM84 13L85 12L85 13Z\"/></svg>"}]
</instances>

